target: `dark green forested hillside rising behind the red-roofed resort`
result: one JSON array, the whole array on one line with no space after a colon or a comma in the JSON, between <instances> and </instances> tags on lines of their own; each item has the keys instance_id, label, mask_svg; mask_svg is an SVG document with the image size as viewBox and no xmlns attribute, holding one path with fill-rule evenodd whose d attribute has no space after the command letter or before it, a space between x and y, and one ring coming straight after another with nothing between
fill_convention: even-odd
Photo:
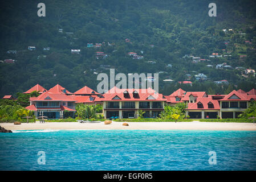
<instances>
[{"instance_id":1,"label":"dark green forested hillside rising behind the red-roofed resort","mask_svg":"<svg viewBox=\"0 0 256 182\"><path fill-rule=\"evenodd\" d=\"M180 86L210 93L255 88L254 76L245 77L235 69L256 69L255 1L215 1L217 17L209 17L210 2L205 0L45 0L46 17L38 17L40 2L0 2L0 60L17 60L14 64L0 64L1 97L25 92L37 83L46 89L59 83L70 92L84 85L96 89L94 72L109 73L100 65L110 65L116 73L125 74L164 72L160 74L160 92L164 94ZM225 33L223 29L233 31ZM87 48L87 43L103 42L105 46L100 48ZM28 46L35 46L36 50L29 51ZM45 47L50 47L50 51L43 51ZM71 49L80 49L81 53L71 54ZM18 52L7 53L8 50ZM96 51L108 57L96 59ZM128 52L136 52L144 59L132 59ZM210 58L214 52L223 57ZM184 55L206 61L192 63L183 59ZM246 59L241 60L241 55L246 55ZM221 63L232 68L216 69L216 64ZM167 64L172 64L172 68ZM206 67L209 64L214 67ZM194 75L198 73L208 76L208 81L196 81ZM185 74L191 75L192 87L177 85L177 81L187 79ZM213 83L224 79L230 85Z\"/></svg>"}]
</instances>

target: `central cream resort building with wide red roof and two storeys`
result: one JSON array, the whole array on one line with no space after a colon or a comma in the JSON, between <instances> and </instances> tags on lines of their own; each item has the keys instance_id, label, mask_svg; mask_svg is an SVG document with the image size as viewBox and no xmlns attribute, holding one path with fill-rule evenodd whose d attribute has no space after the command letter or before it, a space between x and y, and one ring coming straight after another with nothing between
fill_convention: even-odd
<instances>
[{"instance_id":1,"label":"central cream resort building with wide red roof and two storeys","mask_svg":"<svg viewBox=\"0 0 256 182\"><path fill-rule=\"evenodd\" d=\"M144 118L156 118L164 110L166 101L162 94L151 88L119 89L116 87L108 90L97 100L103 103L105 118L137 118L139 110L145 111Z\"/></svg>"}]
</instances>

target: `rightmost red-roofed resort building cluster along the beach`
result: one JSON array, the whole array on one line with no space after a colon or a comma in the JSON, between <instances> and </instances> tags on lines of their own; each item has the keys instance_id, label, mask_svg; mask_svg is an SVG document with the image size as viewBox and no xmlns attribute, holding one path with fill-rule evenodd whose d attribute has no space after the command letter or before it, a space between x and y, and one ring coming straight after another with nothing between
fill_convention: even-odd
<instances>
[{"instance_id":1,"label":"rightmost red-roofed resort building cluster along the beach","mask_svg":"<svg viewBox=\"0 0 256 182\"><path fill-rule=\"evenodd\" d=\"M233 90L227 95L208 95L206 92L185 92L178 89L166 98L166 104L176 105L185 102L186 115L190 118L238 118L249 107L250 101L256 101L256 90L249 92Z\"/></svg>"}]
</instances>

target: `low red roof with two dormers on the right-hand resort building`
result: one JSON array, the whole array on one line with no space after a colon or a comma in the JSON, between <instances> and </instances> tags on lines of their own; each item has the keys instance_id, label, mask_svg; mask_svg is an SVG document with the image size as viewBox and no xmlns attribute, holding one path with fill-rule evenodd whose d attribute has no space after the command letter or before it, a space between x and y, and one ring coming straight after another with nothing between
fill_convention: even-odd
<instances>
[{"instance_id":1,"label":"low red roof with two dormers on the right-hand resort building","mask_svg":"<svg viewBox=\"0 0 256 182\"><path fill-rule=\"evenodd\" d=\"M201 102L203 105L203 108L198 108L197 104ZM208 103L212 102L214 108L209 108ZM217 100L212 100L210 97L201 97L197 98L197 101L195 103L188 103L188 109L187 110L192 110L192 109L199 109L199 110L205 110L205 109L210 109L210 110L219 110L220 109L220 104Z\"/></svg>"}]
</instances>

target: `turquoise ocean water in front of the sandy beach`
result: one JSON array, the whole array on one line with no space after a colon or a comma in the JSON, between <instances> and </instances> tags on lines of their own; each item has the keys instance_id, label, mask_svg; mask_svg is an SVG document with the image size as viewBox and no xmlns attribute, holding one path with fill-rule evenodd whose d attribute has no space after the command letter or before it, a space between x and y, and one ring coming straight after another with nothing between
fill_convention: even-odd
<instances>
[{"instance_id":1,"label":"turquoise ocean water in front of the sandy beach","mask_svg":"<svg viewBox=\"0 0 256 182\"><path fill-rule=\"evenodd\" d=\"M38 164L38 151L46 164ZM216 152L216 165L209 164ZM255 131L23 130L0 133L0 170L256 170Z\"/></svg>"}]
</instances>

